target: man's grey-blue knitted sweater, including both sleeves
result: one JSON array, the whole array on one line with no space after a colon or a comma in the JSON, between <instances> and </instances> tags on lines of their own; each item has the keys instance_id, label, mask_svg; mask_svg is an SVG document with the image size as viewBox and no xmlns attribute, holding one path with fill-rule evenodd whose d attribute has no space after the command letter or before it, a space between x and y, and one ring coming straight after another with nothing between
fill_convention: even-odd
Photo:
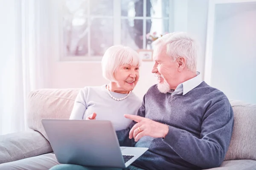
<instances>
[{"instance_id":1,"label":"man's grey-blue knitted sweater, including both sleeves","mask_svg":"<svg viewBox=\"0 0 256 170\"><path fill-rule=\"evenodd\" d=\"M221 91L201 82L185 95L162 94L149 88L139 116L169 126L164 139L128 138L136 122L116 134L121 146L148 147L134 166L146 170L191 170L218 167L224 160L233 131L233 110Z\"/></svg>"}]
</instances>

